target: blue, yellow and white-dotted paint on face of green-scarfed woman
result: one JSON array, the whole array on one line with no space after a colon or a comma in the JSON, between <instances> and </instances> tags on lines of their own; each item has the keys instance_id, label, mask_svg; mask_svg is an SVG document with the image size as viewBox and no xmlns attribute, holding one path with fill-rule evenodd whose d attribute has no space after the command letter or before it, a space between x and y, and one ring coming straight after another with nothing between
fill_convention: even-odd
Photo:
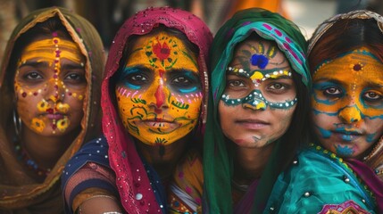
<instances>
[{"instance_id":1,"label":"blue, yellow and white-dotted paint on face of green-scarfed woman","mask_svg":"<svg viewBox=\"0 0 383 214\"><path fill-rule=\"evenodd\" d=\"M239 68L229 67L227 74L237 75L241 78L250 78L255 88L260 87L262 82L267 79L291 78L291 72L287 68L278 68L280 64L286 62L285 59L282 59L280 62L270 61L270 59L274 59L276 56L277 50L276 45L270 45L265 48L262 42L259 42L257 45L247 45L235 57L235 60L237 59L239 63ZM277 68L265 70L269 63ZM247 95L239 93L231 93L231 95L223 94L221 100L227 105L242 104L255 110L265 110L267 106L270 106L272 109L288 109L297 102L296 97L292 97L290 100L287 100L286 97L282 97L281 100L275 98L276 96L262 95L262 90L255 89Z\"/></svg>"}]
</instances>

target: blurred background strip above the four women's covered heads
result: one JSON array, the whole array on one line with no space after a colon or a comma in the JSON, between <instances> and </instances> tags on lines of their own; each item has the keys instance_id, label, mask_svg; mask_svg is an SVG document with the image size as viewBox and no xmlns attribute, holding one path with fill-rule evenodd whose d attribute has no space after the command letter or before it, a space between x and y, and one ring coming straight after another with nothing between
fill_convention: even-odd
<instances>
[{"instance_id":1,"label":"blurred background strip above the four women's covered heads","mask_svg":"<svg viewBox=\"0 0 383 214\"><path fill-rule=\"evenodd\" d=\"M17 22L29 12L62 6L92 22L106 51L123 21L148 6L171 5L195 13L214 34L234 12L262 7L295 21L306 38L325 19L339 12L369 9L383 13L383 0L0 0L0 57ZM1 59L0 58L0 59Z\"/></svg>"}]
</instances>

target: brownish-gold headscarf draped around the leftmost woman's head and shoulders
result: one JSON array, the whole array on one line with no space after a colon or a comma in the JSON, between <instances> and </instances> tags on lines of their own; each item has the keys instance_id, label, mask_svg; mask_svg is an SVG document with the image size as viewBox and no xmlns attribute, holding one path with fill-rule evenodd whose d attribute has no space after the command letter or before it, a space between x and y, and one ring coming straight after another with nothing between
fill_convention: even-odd
<instances>
[{"instance_id":1,"label":"brownish-gold headscarf draped around the leftmost woman's head and shoulders","mask_svg":"<svg viewBox=\"0 0 383 214\"><path fill-rule=\"evenodd\" d=\"M10 68L14 68L12 51L18 39L38 22L52 17L58 17L62 21L62 25L86 58L87 95L84 99L84 118L81 120L79 136L71 142L45 180L37 182L34 177L30 177L23 163L18 161L14 152L15 145L9 136L14 130L12 111L15 107L12 100L14 97L10 97L12 94L7 91L10 84L13 84L13 79L7 78L12 78L12 73L15 72ZM101 38L96 29L82 17L66 9L46 8L30 13L19 23L13 30L4 53L6 54L0 70L0 210L9 210L11 213L63 213L59 185L62 169L83 142L100 134L98 124L101 118L96 106L100 103L99 88L105 57Z\"/></svg>"}]
</instances>

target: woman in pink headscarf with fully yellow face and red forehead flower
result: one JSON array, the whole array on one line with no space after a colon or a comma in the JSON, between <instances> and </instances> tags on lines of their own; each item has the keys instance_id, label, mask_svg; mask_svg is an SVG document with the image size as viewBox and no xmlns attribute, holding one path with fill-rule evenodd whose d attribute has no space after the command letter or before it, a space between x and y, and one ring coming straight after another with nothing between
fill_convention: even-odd
<instances>
[{"instance_id":1,"label":"woman in pink headscarf with fully yellow face and red forehead flower","mask_svg":"<svg viewBox=\"0 0 383 214\"><path fill-rule=\"evenodd\" d=\"M202 187L193 186L202 186L202 169L185 180L171 177L177 165L201 162L211 42L203 21L169 7L137 12L121 26L102 87L104 136L62 175L70 213L200 209Z\"/></svg>"}]
</instances>

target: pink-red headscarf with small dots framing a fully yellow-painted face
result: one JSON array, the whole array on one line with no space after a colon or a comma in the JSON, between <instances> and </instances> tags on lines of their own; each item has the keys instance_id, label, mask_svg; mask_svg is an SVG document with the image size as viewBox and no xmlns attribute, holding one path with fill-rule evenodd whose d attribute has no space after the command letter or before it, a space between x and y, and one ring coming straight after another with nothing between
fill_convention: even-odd
<instances>
[{"instance_id":1,"label":"pink-red headscarf with small dots framing a fully yellow-painted face","mask_svg":"<svg viewBox=\"0 0 383 214\"><path fill-rule=\"evenodd\" d=\"M204 124L208 91L207 55L212 43L212 33L194 14L170 7L147 8L137 12L117 32L106 62L106 76L102 85L104 136L109 144L109 160L116 173L116 185L121 203L128 213L161 213L160 206L146 175L146 169L137 153L131 136L122 126L116 107L112 103L113 88L110 91L112 75L119 69L124 46L132 35L146 35L162 24L179 29L199 48L198 65L204 92L204 106L201 118ZM121 65L122 66L122 65ZM200 128L201 129L201 128Z\"/></svg>"}]
</instances>

